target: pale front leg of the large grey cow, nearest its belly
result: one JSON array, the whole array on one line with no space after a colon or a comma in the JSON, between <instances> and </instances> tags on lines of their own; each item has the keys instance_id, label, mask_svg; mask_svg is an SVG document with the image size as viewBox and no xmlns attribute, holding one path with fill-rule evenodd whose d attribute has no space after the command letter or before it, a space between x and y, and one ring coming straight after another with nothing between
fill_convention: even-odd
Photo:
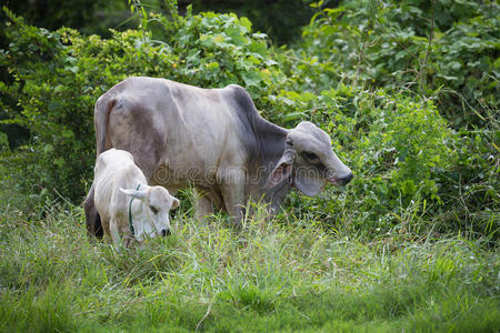
<instances>
[{"instance_id":1,"label":"pale front leg of the large grey cow, nearest its belly","mask_svg":"<svg viewBox=\"0 0 500 333\"><path fill-rule=\"evenodd\" d=\"M222 184L222 196L226 209L231 215L234 226L241 228L244 206L244 178L242 171L232 171Z\"/></svg>"}]
</instances>

